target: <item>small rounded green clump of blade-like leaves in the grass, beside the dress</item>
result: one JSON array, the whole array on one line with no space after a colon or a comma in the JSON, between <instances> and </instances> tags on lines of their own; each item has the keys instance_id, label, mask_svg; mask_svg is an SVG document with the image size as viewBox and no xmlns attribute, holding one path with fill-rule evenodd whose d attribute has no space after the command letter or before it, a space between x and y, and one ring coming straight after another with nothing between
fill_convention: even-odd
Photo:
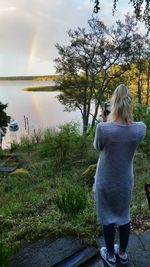
<instances>
[{"instance_id":1,"label":"small rounded green clump of blade-like leaves in the grass, beside the dress","mask_svg":"<svg viewBox=\"0 0 150 267\"><path fill-rule=\"evenodd\" d=\"M54 203L62 214L74 217L83 212L87 204L87 193L80 185L66 180L56 191Z\"/></svg>"}]
</instances>

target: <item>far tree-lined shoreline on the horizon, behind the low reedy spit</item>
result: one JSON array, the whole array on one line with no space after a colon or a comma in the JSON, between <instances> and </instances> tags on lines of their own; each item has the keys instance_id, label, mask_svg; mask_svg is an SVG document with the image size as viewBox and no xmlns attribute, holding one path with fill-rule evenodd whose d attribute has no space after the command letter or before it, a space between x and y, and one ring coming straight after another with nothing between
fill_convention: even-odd
<instances>
[{"instance_id":1,"label":"far tree-lined shoreline on the horizon, behind the low reedy spit","mask_svg":"<svg viewBox=\"0 0 150 267\"><path fill-rule=\"evenodd\" d=\"M20 80L33 80L33 81L55 81L58 79L57 75L38 75L38 76L6 76L0 77L0 81L20 81Z\"/></svg>"}]
</instances>

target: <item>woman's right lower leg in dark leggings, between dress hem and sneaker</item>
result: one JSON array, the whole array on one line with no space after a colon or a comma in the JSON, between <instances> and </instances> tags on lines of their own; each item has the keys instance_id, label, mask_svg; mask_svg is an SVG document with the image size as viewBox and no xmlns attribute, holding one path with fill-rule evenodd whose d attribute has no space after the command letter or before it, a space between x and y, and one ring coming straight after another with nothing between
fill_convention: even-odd
<instances>
[{"instance_id":1,"label":"woman's right lower leg in dark leggings, between dress hem and sneaker","mask_svg":"<svg viewBox=\"0 0 150 267\"><path fill-rule=\"evenodd\" d=\"M119 226L120 252L125 252L130 235L130 222Z\"/></svg>"}]
</instances>

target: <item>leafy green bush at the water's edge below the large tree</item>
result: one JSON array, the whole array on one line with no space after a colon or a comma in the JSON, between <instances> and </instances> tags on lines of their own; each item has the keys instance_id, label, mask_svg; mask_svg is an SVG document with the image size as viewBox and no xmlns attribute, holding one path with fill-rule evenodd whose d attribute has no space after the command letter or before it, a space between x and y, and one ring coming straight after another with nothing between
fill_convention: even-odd
<instances>
[{"instance_id":1,"label":"leafy green bush at the water's edge below the large tree","mask_svg":"<svg viewBox=\"0 0 150 267\"><path fill-rule=\"evenodd\" d=\"M45 132L39 155L41 158L54 157L60 164L70 160L70 157L81 159L87 153L86 147L86 139L80 135L77 124L68 123L59 126L58 131Z\"/></svg>"}]
</instances>

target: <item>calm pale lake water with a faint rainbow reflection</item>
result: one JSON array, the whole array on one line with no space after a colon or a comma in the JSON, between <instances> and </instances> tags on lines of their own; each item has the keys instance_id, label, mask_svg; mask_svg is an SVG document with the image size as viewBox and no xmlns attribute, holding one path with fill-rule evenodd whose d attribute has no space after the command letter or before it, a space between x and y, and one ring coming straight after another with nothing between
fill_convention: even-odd
<instances>
[{"instance_id":1,"label":"calm pale lake water with a faint rainbow reflection","mask_svg":"<svg viewBox=\"0 0 150 267\"><path fill-rule=\"evenodd\" d=\"M79 111L64 112L64 106L57 99L59 92L25 92L21 88L33 85L49 85L51 81L0 81L0 101L8 103L7 114L16 119L19 130L15 133L7 130L3 148L9 147L13 140L27 134L24 116L28 117L30 133L33 130L56 127L65 122L81 123Z\"/></svg>"}]
</instances>

